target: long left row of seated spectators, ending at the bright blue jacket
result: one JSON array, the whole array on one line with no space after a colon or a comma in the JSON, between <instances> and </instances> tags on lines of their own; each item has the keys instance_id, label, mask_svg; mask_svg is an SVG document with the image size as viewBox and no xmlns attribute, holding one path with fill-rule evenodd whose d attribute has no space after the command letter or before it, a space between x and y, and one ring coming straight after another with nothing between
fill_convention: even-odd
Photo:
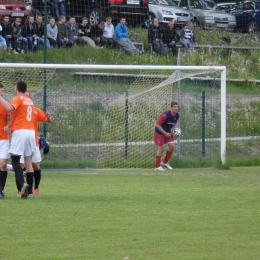
<instances>
[{"instance_id":1,"label":"long left row of seated spectators, ending at the bright blue jacket","mask_svg":"<svg viewBox=\"0 0 260 260\"><path fill-rule=\"evenodd\" d=\"M51 17L46 26L46 40L44 40L42 16L38 16L36 21L34 16L29 16L23 24L21 18L16 18L13 23L9 19L9 16L5 16L0 23L0 43L2 50L9 49L13 54L37 52L39 46L44 46L44 44L46 44L47 49L62 46L70 48L75 44L79 46L89 45L93 48L115 48L119 44L126 51L133 53L132 49L128 47L131 41L128 39L124 18L122 19L124 21L122 27L124 33L120 35L115 30L110 17L106 19L106 22L91 27L86 17L82 19L79 25L76 23L75 17L70 17L67 22L64 15L60 15L58 22L55 21L54 17ZM121 23L119 24L121 25ZM124 40L121 40L122 38ZM125 41L127 41L127 44Z\"/></svg>"}]
</instances>

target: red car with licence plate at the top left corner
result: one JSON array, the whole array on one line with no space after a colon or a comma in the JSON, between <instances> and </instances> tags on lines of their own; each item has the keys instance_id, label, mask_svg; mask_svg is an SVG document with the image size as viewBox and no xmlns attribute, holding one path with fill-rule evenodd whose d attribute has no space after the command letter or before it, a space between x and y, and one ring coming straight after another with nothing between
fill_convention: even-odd
<instances>
[{"instance_id":1,"label":"red car with licence plate at the top left corner","mask_svg":"<svg viewBox=\"0 0 260 260\"><path fill-rule=\"evenodd\" d=\"M32 6L23 1L0 0L0 20L4 15L8 15L11 21L16 17L26 19L28 15L32 14L32 11Z\"/></svg>"}]
</instances>

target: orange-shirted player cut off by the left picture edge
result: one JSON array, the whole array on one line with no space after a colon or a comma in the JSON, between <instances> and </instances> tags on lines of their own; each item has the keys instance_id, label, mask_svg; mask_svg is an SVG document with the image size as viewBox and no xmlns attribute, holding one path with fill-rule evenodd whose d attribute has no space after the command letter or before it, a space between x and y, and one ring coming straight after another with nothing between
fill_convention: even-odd
<instances>
[{"instance_id":1,"label":"orange-shirted player cut off by the left picture edge","mask_svg":"<svg viewBox=\"0 0 260 260\"><path fill-rule=\"evenodd\" d=\"M0 83L0 96L4 95L4 86ZM0 104L0 199L4 199L4 187L7 178L7 159L9 158L8 130L11 124L11 113Z\"/></svg>"}]
</instances>

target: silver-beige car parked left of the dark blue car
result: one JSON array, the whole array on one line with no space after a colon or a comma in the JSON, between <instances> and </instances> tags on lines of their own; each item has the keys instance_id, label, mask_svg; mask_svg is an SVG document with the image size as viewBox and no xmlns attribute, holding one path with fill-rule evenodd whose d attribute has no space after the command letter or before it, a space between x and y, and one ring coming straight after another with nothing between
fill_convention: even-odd
<instances>
[{"instance_id":1,"label":"silver-beige car parked left of the dark blue car","mask_svg":"<svg viewBox=\"0 0 260 260\"><path fill-rule=\"evenodd\" d=\"M235 16L216 10L216 4L213 1L180 0L178 5L189 10L193 14L195 25L203 29L233 31L236 27Z\"/></svg>"}]
</instances>

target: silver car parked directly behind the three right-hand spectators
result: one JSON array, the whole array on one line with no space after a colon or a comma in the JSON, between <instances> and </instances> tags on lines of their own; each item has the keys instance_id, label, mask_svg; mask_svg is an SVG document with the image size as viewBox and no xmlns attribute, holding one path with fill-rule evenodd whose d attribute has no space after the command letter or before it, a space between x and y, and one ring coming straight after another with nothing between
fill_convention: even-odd
<instances>
[{"instance_id":1,"label":"silver car parked directly behind the three right-hand spectators","mask_svg":"<svg viewBox=\"0 0 260 260\"><path fill-rule=\"evenodd\" d=\"M175 27L183 27L187 22L193 21L191 12L178 7L172 0L150 0L149 22L154 18L158 18L164 25L174 21Z\"/></svg>"}]
</instances>

